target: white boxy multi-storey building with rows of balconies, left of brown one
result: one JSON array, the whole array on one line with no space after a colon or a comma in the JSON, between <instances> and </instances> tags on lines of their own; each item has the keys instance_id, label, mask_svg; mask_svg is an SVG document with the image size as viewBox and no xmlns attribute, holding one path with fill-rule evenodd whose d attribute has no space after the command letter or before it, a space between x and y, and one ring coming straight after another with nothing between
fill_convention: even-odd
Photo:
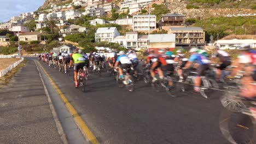
<instances>
[{"instance_id":1,"label":"white boxy multi-storey building with rows of balconies, left of brown one","mask_svg":"<svg viewBox=\"0 0 256 144\"><path fill-rule=\"evenodd\" d=\"M155 15L133 15L133 31L154 31L156 29Z\"/></svg>"}]
</instances>

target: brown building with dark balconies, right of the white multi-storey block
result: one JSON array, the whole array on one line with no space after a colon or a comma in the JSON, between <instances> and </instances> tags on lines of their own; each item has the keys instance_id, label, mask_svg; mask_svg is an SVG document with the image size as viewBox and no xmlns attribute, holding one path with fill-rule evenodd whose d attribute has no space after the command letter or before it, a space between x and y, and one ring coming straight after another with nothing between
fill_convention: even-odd
<instances>
[{"instance_id":1,"label":"brown building with dark balconies, right of the white multi-storey block","mask_svg":"<svg viewBox=\"0 0 256 144\"><path fill-rule=\"evenodd\" d=\"M184 27L185 15L182 14L166 14L161 16L158 25L160 29L168 31L170 27Z\"/></svg>"}]
</instances>

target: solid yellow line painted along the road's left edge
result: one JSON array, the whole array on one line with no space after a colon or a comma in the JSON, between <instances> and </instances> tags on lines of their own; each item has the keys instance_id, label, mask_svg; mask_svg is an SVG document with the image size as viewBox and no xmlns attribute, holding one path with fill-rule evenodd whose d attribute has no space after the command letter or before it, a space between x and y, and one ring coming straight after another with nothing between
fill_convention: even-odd
<instances>
[{"instance_id":1,"label":"solid yellow line painted along the road's left edge","mask_svg":"<svg viewBox=\"0 0 256 144\"><path fill-rule=\"evenodd\" d=\"M69 112L71 113L71 115L74 117L75 122L78 124L78 126L80 127L80 129L82 130L82 132L84 133L84 135L86 137L88 137L89 141L92 144L98 144L100 142L98 142L98 140L96 139L96 137L94 136L94 134L92 134L91 130L88 128L88 126L85 124L85 122L83 121L82 117L79 116L78 112L74 109L74 107L69 103L68 99L65 97L65 95L61 92L60 88L56 85L56 83L54 82L53 79L51 79L50 75L45 71L45 69L42 67L42 65L37 61L37 63L40 65L40 67L43 69L45 75L48 77L48 79L50 80L51 84L54 86L54 88L56 89L57 93L60 94L61 99L63 100L63 102L65 103L65 105L67 106L67 109L69 110Z\"/></svg>"}]
</instances>

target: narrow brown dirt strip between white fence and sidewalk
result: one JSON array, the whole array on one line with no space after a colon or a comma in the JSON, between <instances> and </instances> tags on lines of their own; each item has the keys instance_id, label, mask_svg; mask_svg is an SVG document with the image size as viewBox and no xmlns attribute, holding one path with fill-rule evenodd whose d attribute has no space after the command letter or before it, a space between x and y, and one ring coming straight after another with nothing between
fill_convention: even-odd
<instances>
[{"instance_id":1,"label":"narrow brown dirt strip between white fence and sidewalk","mask_svg":"<svg viewBox=\"0 0 256 144\"><path fill-rule=\"evenodd\" d=\"M21 62L17 67L9 71L6 75L3 77L0 77L0 88L3 88L4 86L7 86L11 78L22 68L25 67L27 63L27 60L24 59L23 62Z\"/></svg>"}]
</instances>

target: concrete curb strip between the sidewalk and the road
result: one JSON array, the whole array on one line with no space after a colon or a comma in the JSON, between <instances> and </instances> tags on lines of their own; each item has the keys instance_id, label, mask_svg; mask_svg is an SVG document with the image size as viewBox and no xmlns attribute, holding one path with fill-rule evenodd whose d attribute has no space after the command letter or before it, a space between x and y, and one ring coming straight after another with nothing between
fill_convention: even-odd
<instances>
[{"instance_id":1,"label":"concrete curb strip between the sidewalk and the road","mask_svg":"<svg viewBox=\"0 0 256 144\"><path fill-rule=\"evenodd\" d=\"M40 71L39 71L37 62L34 61L34 63L35 63L36 66L37 66L37 70L38 70L40 79L41 79L41 81L42 81L42 83L43 83L44 92L45 92L45 95L47 96L47 100L48 100L48 103L49 103L49 106L50 106L50 109L51 109L51 113L53 114L54 122L55 122L55 124L56 124L58 133L59 133L59 135L60 135L60 139L61 139L61 141L62 141L63 144L68 144L66 134L65 134L65 132L64 132L64 130L63 130L63 128L62 128L62 125L61 125L61 122L60 122L60 120L59 120L59 117L57 116L57 113L56 113L56 111L55 111L53 102L51 101L51 97L50 97L49 92L48 92L48 90L47 90L47 88L46 88L46 86L45 86L43 77L42 77L42 75L40 74Z\"/></svg>"}]
</instances>

